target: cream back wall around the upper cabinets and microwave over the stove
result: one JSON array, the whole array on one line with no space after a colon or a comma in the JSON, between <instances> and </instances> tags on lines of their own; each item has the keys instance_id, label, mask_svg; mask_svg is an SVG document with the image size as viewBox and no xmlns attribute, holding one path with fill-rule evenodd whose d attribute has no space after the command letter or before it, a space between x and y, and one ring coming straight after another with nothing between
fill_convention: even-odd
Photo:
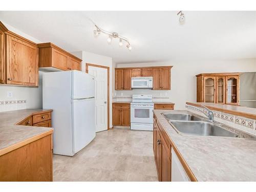
<instances>
[{"instance_id":1,"label":"cream back wall around the upper cabinets and microwave over the stove","mask_svg":"<svg viewBox=\"0 0 256 192\"><path fill-rule=\"evenodd\" d=\"M256 71L256 58L237 60L184 60L169 62L125 63L122 67L173 66L171 70L171 90L132 90L115 91L113 95L131 96L132 94L152 94L168 96L168 101L175 103L175 109L185 109L186 101L196 101L196 75L199 73L252 72ZM114 78L114 77L113 77ZM114 87L114 84L113 84ZM165 100L166 101L166 100Z\"/></svg>"}]
</instances>

